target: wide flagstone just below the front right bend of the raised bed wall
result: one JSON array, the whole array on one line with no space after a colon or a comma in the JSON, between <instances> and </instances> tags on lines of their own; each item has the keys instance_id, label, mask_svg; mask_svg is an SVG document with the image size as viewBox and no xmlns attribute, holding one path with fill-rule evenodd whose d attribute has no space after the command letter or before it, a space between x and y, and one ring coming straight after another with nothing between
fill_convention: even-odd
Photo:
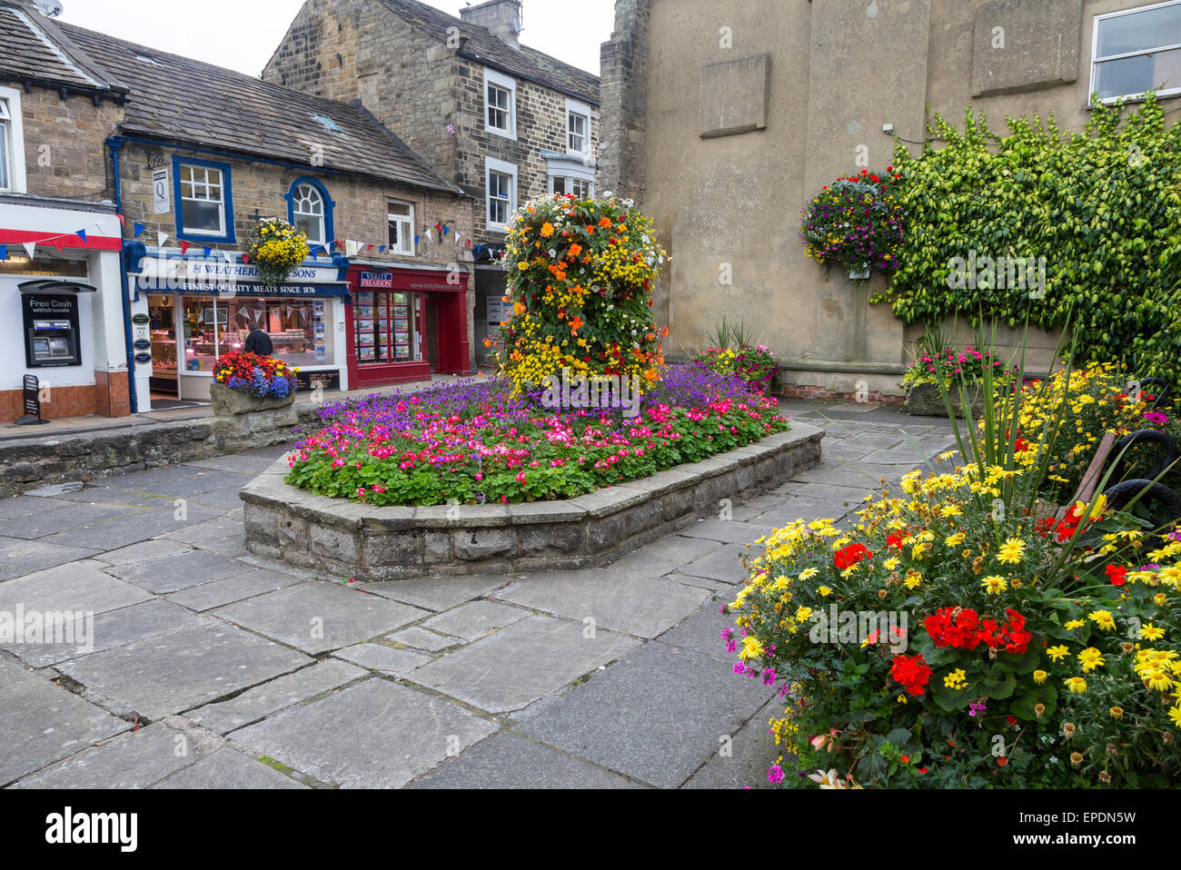
<instances>
[{"instance_id":1,"label":"wide flagstone just below the front right bend of the raised bed wall","mask_svg":"<svg viewBox=\"0 0 1181 870\"><path fill-rule=\"evenodd\" d=\"M496 595L534 610L579 622L593 619L602 628L655 637L700 607L709 591L667 580L592 568L531 575Z\"/></svg>"}]
</instances>

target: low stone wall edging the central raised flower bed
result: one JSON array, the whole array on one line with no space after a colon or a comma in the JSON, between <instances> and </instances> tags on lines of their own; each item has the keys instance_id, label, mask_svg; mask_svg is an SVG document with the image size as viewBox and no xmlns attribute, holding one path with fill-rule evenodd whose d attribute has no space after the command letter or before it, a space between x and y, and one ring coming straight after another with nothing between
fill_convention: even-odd
<instances>
[{"instance_id":1,"label":"low stone wall edging the central raised flower bed","mask_svg":"<svg viewBox=\"0 0 1181 870\"><path fill-rule=\"evenodd\" d=\"M429 574L602 564L729 498L748 501L820 463L821 430L794 424L729 453L555 502L372 508L283 483L281 459L242 492L247 548L293 565L374 582Z\"/></svg>"}]
</instances>

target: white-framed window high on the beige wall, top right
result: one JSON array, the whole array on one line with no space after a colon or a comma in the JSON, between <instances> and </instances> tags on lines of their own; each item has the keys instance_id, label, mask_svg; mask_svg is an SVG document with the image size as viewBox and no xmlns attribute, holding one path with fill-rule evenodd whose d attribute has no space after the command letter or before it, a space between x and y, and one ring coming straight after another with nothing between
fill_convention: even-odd
<instances>
[{"instance_id":1,"label":"white-framed window high on the beige wall, top right","mask_svg":"<svg viewBox=\"0 0 1181 870\"><path fill-rule=\"evenodd\" d=\"M1181 93L1181 0L1095 17L1091 92L1105 103Z\"/></svg>"}]
</instances>

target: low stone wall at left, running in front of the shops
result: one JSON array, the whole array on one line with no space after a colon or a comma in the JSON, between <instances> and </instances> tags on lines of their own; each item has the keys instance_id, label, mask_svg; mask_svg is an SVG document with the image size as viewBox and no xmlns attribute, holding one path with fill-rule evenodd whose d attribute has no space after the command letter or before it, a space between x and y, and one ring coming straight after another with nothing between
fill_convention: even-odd
<instances>
[{"instance_id":1,"label":"low stone wall at left, running in front of the shops","mask_svg":"<svg viewBox=\"0 0 1181 870\"><path fill-rule=\"evenodd\" d=\"M294 426L321 424L317 410L317 405L305 403L233 417L4 440L0 497L285 444L293 440Z\"/></svg>"}]
</instances>

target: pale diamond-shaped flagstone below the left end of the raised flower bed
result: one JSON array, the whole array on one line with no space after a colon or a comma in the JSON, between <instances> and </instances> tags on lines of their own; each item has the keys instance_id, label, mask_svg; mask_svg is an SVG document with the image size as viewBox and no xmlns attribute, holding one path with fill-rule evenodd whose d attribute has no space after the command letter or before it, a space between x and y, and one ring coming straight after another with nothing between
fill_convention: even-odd
<instances>
[{"instance_id":1,"label":"pale diamond-shaped flagstone below the left end of the raised flower bed","mask_svg":"<svg viewBox=\"0 0 1181 870\"><path fill-rule=\"evenodd\" d=\"M311 581L230 604L215 615L315 654L387 634L430 613L335 583Z\"/></svg>"}]
</instances>

